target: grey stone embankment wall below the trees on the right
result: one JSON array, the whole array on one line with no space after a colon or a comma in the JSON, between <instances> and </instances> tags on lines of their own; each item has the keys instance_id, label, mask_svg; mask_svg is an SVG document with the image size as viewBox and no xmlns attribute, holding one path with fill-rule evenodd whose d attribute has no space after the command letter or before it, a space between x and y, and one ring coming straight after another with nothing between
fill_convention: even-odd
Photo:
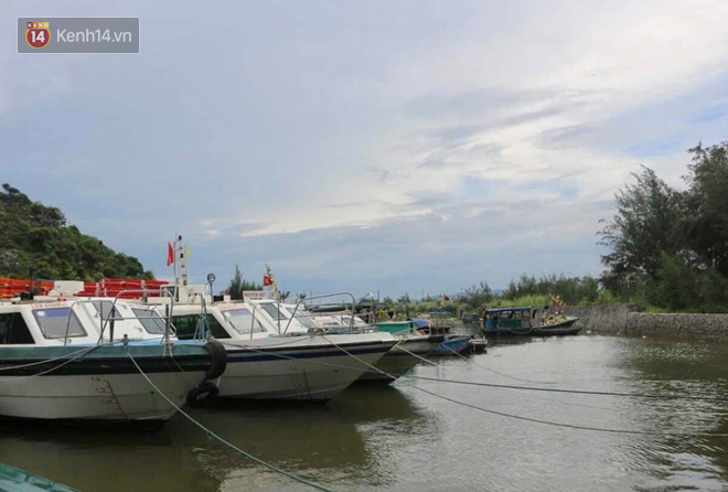
<instances>
[{"instance_id":1,"label":"grey stone embankment wall below the trees on the right","mask_svg":"<svg viewBox=\"0 0 728 492\"><path fill-rule=\"evenodd\" d=\"M728 342L728 314L638 312L634 304L569 306L564 313L595 333Z\"/></svg>"}]
</instances>

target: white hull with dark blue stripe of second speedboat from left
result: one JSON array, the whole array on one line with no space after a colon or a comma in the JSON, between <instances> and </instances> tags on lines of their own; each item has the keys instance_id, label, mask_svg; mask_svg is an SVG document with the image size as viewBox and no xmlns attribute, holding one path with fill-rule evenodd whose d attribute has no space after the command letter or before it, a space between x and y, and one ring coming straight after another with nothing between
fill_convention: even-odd
<instances>
[{"instance_id":1,"label":"white hull with dark blue stripe of second speedboat from left","mask_svg":"<svg viewBox=\"0 0 728 492\"><path fill-rule=\"evenodd\" d=\"M217 383L220 396L325 402L371 370L395 343L382 333L251 340L247 344L225 341L228 365Z\"/></svg>"}]
</instances>

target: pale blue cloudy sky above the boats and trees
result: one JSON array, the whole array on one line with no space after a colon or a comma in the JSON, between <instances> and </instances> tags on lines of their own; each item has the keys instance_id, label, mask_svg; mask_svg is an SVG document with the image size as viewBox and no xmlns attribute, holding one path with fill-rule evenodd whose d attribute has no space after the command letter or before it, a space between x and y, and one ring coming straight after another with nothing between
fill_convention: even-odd
<instances>
[{"instance_id":1,"label":"pale blue cloudy sky above the boats and trees","mask_svg":"<svg viewBox=\"0 0 728 492\"><path fill-rule=\"evenodd\" d=\"M17 54L138 17L140 54ZM3 1L0 181L168 278L297 292L598 276L640 165L728 139L728 2Z\"/></svg>"}]
</instances>

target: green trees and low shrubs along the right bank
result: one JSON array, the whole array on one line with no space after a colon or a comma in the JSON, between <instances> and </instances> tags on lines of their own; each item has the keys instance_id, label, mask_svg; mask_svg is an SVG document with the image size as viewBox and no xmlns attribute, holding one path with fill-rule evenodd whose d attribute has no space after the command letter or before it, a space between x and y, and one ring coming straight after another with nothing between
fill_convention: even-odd
<instances>
[{"instance_id":1,"label":"green trees and low shrubs along the right bank","mask_svg":"<svg viewBox=\"0 0 728 492\"><path fill-rule=\"evenodd\" d=\"M728 142L689 149L687 188L668 186L649 169L617 193L617 215L600 244L610 253L601 278L522 275L495 295L482 281L453 299L408 295L385 302L397 312L479 311L483 307L633 302L647 312L728 312ZM385 300L386 301L386 300Z\"/></svg>"}]
</instances>

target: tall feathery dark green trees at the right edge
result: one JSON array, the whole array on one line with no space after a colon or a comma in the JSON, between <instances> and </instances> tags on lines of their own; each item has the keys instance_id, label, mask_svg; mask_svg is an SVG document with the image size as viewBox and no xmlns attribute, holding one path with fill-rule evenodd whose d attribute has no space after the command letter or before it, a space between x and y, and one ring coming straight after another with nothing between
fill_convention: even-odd
<instances>
[{"instance_id":1,"label":"tall feathery dark green trees at the right edge","mask_svg":"<svg viewBox=\"0 0 728 492\"><path fill-rule=\"evenodd\" d=\"M728 142L689 149L675 190L643 168L617 194L601 232L603 286L620 300L672 311L728 311Z\"/></svg>"}]
</instances>

